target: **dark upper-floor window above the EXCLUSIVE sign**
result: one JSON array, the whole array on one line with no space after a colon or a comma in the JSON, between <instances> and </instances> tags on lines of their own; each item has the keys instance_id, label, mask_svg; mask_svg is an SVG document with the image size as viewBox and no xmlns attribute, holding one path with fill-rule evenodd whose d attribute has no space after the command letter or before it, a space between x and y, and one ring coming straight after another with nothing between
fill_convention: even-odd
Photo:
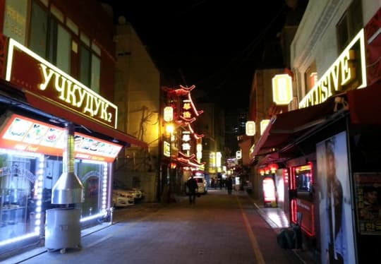
<instances>
[{"instance_id":1,"label":"dark upper-floor window above the EXCLUSIVE sign","mask_svg":"<svg viewBox=\"0 0 381 264\"><path fill-rule=\"evenodd\" d=\"M361 0L353 0L337 23L337 47L341 53L356 34L363 28L363 8Z\"/></svg>"}]
</instances>

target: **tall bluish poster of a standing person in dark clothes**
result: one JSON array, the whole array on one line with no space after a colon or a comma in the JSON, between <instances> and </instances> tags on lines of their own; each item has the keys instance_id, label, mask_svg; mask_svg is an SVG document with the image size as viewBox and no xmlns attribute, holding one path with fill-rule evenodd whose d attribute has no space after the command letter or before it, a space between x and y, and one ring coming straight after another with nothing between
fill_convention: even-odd
<instances>
[{"instance_id":1,"label":"tall bluish poster of a standing person in dark clothes","mask_svg":"<svg viewBox=\"0 0 381 264\"><path fill-rule=\"evenodd\" d=\"M316 145L321 263L355 263L346 133Z\"/></svg>"}]
</instances>

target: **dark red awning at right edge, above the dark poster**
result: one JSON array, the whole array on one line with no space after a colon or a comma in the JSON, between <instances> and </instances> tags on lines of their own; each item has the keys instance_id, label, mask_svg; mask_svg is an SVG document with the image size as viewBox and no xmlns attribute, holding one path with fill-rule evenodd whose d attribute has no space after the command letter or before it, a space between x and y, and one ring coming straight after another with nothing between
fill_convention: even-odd
<instances>
[{"instance_id":1,"label":"dark red awning at right edge, above the dark poster","mask_svg":"<svg viewBox=\"0 0 381 264\"><path fill-rule=\"evenodd\" d=\"M381 84L375 83L358 90L347 92L349 116L352 124L381 124Z\"/></svg>"}]
</instances>

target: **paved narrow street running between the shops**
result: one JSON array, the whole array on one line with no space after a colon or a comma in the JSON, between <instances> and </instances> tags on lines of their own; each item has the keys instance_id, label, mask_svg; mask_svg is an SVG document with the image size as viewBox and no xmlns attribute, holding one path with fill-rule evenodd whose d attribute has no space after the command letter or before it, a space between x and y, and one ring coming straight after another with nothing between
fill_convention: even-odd
<instances>
[{"instance_id":1,"label":"paved narrow street running between the shops","mask_svg":"<svg viewBox=\"0 0 381 264\"><path fill-rule=\"evenodd\" d=\"M211 190L188 204L135 205L115 211L114 224L82 237L82 248L5 263L305 263L279 248L277 233L244 192Z\"/></svg>"}]
</instances>

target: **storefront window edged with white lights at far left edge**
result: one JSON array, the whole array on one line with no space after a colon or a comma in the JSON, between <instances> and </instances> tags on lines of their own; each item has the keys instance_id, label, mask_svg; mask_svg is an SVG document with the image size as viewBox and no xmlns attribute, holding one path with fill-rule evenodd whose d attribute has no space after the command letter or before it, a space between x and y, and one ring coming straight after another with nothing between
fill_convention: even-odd
<instances>
[{"instance_id":1,"label":"storefront window edged with white lights at far left edge","mask_svg":"<svg viewBox=\"0 0 381 264\"><path fill-rule=\"evenodd\" d=\"M0 241L40 232L42 155L0 149ZM37 228L37 229L36 229Z\"/></svg>"}]
</instances>

